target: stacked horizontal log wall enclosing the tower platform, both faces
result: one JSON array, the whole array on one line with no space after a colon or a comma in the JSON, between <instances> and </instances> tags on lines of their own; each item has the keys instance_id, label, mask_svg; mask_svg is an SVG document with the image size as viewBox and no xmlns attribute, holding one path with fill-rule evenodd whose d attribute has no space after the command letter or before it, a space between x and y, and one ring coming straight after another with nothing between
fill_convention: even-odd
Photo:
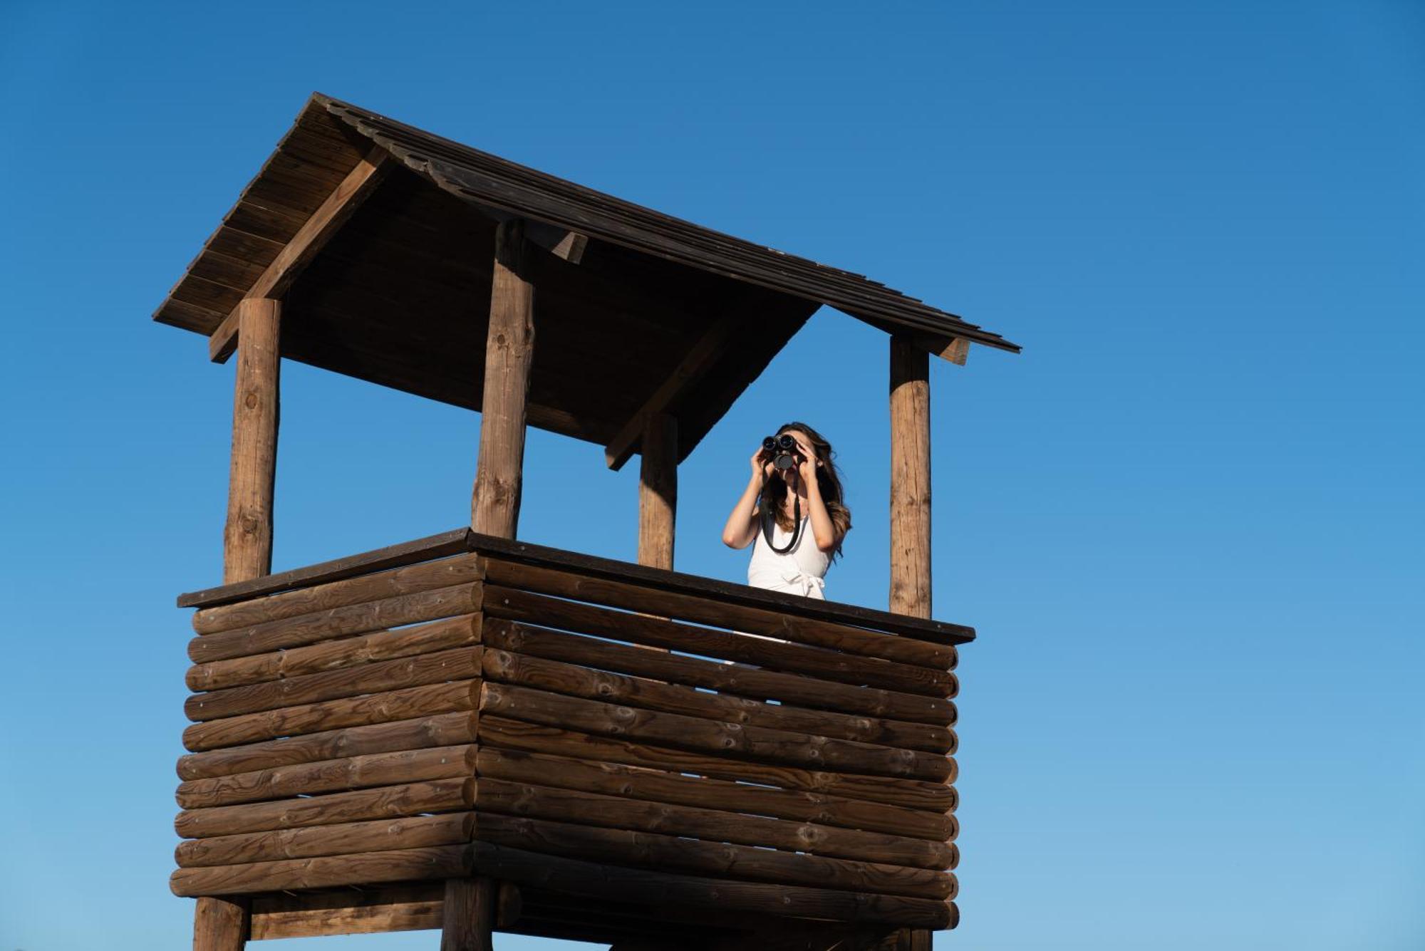
<instances>
[{"instance_id":1,"label":"stacked horizontal log wall enclosing the tower platform, both faces","mask_svg":"<svg viewBox=\"0 0 1425 951\"><path fill-rule=\"evenodd\" d=\"M969 628L467 531L180 604L172 888L252 938L437 927L476 874L549 937L956 921Z\"/></svg>"}]
</instances>

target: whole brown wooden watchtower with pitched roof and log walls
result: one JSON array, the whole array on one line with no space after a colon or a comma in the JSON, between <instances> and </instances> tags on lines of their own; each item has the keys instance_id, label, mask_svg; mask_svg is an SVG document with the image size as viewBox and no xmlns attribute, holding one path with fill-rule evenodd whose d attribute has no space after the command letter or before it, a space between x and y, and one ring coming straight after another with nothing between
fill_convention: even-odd
<instances>
[{"instance_id":1,"label":"whole brown wooden watchtower with pitched roof and log walls","mask_svg":"<svg viewBox=\"0 0 1425 951\"><path fill-rule=\"evenodd\" d=\"M821 305L889 335L889 611L673 571L678 463ZM155 319L237 353L224 584L178 598L198 951L955 925L973 631L931 619L928 360L1015 345L325 95ZM482 411L470 527L271 574L281 357ZM641 456L640 564L517 541L526 426Z\"/></svg>"}]
</instances>

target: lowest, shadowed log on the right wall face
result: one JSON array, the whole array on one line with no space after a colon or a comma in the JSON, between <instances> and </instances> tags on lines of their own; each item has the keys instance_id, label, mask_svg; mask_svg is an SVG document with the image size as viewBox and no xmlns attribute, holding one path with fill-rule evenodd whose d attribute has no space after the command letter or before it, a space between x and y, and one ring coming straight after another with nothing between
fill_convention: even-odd
<instances>
[{"instance_id":1,"label":"lowest, shadowed log on the right wall face","mask_svg":"<svg viewBox=\"0 0 1425 951\"><path fill-rule=\"evenodd\" d=\"M949 927L953 920L950 903L929 898L674 876L479 841L470 848L476 868L492 877L591 898L711 905L730 911L836 921L886 921L929 928Z\"/></svg>"}]
</instances>

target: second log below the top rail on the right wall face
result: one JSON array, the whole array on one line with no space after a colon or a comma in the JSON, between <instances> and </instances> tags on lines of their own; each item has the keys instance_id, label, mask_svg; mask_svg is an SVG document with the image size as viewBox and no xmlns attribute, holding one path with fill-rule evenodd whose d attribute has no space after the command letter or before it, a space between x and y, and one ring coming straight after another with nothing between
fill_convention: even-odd
<instances>
[{"instance_id":1,"label":"second log below the top rail on the right wall face","mask_svg":"<svg viewBox=\"0 0 1425 951\"><path fill-rule=\"evenodd\" d=\"M496 568L492 564L489 575L493 579ZM580 634L597 634L647 646L685 651L724 661L741 661L789 673L804 673L824 681L872 686L899 693L912 693L945 699L956 692L955 675L946 669L916 666L896 661L884 661L819 646L807 646L765 638L750 638L734 631L701 628L661 616L634 615L626 611L610 611L589 604L561 601L527 591L506 588L486 582L486 614L512 621L524 621L553 628L569 628ZM580 591L566 597L589 597ZM596 597L597 599L597 597ZM656 598L646 602L646 609L658 615L673 615L668 605ZM225 636L225 635L211 635ZM909 643L909 642L906 642ZM923 705L931 706L931 705Z\"/></svg>"}]
</instances>

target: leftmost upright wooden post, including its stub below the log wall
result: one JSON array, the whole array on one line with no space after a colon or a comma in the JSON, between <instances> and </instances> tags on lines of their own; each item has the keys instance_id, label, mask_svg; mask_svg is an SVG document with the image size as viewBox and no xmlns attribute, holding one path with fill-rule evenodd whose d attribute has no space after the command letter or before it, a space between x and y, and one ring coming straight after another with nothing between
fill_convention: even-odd
<instances>
[{"instance_id":1,"label":"leftmost upright wooden post, including its stub below the log wall","mask_svg":"<svg viewBox=\"0 0 1425 951\"><path fill-rule=\"evenodd\" d=\"M241 300L238 367L232 390L232 460L228 521L222 531L222 582L272 572L272 484L282 356L282 302ZM248 941L247 898L201 897L194 907L194 951L241 951Z\"/></svg>"}]
</instances>

